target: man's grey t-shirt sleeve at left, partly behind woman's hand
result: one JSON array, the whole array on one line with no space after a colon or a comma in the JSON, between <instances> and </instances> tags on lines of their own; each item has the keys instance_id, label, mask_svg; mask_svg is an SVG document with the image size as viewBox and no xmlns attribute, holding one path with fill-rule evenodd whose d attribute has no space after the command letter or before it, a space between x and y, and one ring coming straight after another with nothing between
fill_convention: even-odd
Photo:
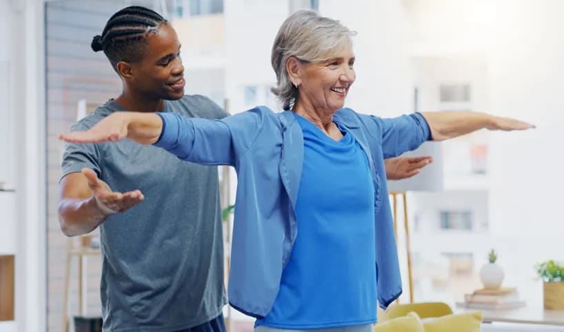
<instances>
[{"instance_id":1,"label":"man's grey t-shirt sleeve at left, partly behind woman's hand","mask_svg":"<svg viewBox=\"0 0 564 332\"><path fill-rule=\"evenodd\" d=\"M88 129L90 127L84 123L76 123L70 128L70 131L77 132ZM84 167L93 169L97 176L101 177L98 146L96 144L66 143L63 150L59 182L70 173L81 172Z\"/></svg>"}]
</instances>

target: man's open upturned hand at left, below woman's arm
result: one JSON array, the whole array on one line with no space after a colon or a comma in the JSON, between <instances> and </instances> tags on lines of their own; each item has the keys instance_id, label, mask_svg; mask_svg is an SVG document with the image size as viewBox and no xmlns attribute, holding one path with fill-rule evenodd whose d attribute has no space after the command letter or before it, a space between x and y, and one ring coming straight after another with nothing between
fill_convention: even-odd
<instances>
[{"instance_id":1,"label":"man's open upturned hand at left, below woman's arm","mask_svg":"<svg viewBox=\"0 0 564 332\"><path fill-rule=\"evenodd\" d=\"M92 191L96 206L104 214L110 215L126 211L143 200L143 194L139 189L125 193L112 191L110 186L100 180L92 169L83 168L82 174L88 180L88 187Z\"/></svg>"}]
</instances>

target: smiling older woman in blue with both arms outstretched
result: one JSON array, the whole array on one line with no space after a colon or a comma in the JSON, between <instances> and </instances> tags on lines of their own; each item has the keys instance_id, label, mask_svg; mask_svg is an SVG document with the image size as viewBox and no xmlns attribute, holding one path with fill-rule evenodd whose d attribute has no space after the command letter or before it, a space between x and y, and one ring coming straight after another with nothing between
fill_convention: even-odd
<instances>
[{"instance_id":1,"label":"smiling older woman in blue with both arms outstretched","mask_svg":"<svg viewBox=\"0 0 564 332\"><path fill-rule=\"evenodd\" d=\"M61 135L130 138L235 167L229 298L258 318L256 331L371 331L376 300L387 307L401 294L384 158L481 128L532 127L475 112L383 119L345 108L352 34L311 11L286 19L272 48L284 112L260 106L217 121L117 112L88 132Z\"/></svg>"}]
</instances>

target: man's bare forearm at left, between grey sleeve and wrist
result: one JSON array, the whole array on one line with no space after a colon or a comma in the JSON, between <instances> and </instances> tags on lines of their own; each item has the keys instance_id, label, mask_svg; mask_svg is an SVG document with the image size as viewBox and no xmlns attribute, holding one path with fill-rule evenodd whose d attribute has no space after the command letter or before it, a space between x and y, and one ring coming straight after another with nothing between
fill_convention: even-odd
<instances>
[{"instance_id":1,"label":"man's bare forearm at left, between grey sleeve and wrist","mask_svg":"<svg viewBox=\"0 0 564 332\"><path fill-rule=\"evenodd\" d=\"M108 216L97 205L94 196L86 199L65 198L59 203L59 222L66 236L88 234Z\"/></svg>"}]
</instances>

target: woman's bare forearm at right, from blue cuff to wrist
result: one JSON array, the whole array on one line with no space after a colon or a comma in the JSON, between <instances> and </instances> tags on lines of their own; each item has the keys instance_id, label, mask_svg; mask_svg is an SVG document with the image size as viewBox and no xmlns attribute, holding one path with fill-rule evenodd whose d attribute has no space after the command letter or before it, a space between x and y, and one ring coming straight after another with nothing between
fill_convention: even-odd
<instances>
[{"instance_id":1,"label":"woman's bare forearm at right, from blue cuff to wrist","mask_svg":"<svg viewBox=\"0 0 564 332\"><path fill-rule=\"evenodd\" d=\"M433 141L443 141L483 128L492 128L494 118L480 112L423 112L431 128Z\"/></svg>"}]
</instances>

